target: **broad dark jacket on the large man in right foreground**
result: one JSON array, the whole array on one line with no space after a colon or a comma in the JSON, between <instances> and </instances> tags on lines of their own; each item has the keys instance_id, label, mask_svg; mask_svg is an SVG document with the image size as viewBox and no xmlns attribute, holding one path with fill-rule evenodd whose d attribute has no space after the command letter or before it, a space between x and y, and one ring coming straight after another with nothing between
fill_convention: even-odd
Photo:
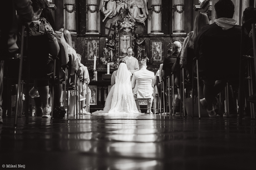
<instances>
[{"instance_id":1,"label":"broad dark jacket on the large man in right foreground","mask_svg":"<svg viewBox=\"0 0 256 170\"><path fill-rule=\"evenodd\" d=\"M200 30L194 42L200 76L229 78L238 75L241 30L239 25L223 30L216 23Z\"/></svg>"}]
</instances>

